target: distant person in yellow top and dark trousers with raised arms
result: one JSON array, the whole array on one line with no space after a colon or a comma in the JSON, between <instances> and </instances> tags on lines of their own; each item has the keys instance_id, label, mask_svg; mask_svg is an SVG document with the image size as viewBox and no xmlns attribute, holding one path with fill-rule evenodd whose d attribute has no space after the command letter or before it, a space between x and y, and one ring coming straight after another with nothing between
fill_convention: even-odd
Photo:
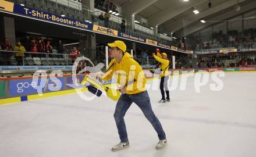
<instances>
[{"instance_id":1,"label":"distant person in yellow top and dark trousers with raised arms","mask_svg":"<svg viewBox=\"0 0 256 157\"><path fill-rule=\"evenodd\" d=\"M159 103L163 103L166 101L170 101L170 95L168 90L168 80L169 80L169 59L167 58L166 53L160 53L159 49L157 49L157 55L152 53L153 57L161 63L161 71L160 74L160 90L162 94L162 99L158 101ZM166 99L165 99L165 92L166 92Z\"/></svg>"}]
</instances>

